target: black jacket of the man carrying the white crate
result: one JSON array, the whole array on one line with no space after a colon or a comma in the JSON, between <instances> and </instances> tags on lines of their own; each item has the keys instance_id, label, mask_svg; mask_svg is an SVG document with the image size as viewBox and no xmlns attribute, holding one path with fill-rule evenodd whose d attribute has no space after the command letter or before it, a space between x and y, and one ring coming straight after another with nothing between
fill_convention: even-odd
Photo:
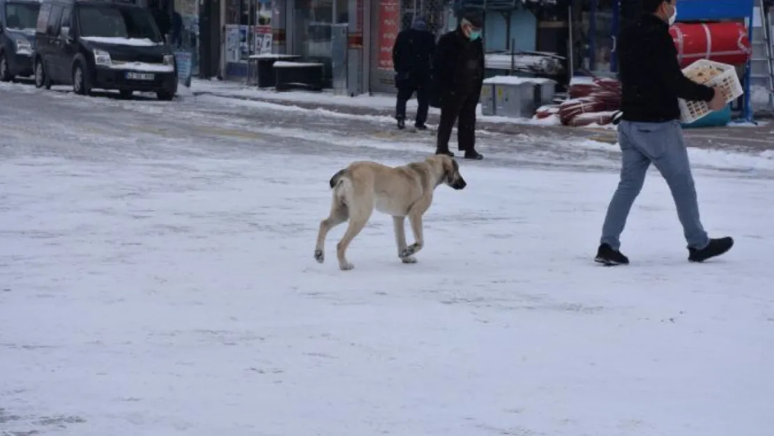
<instances>
[{"instance_id":1,"label":"black jacket of the man carrying the white crate","mask_svg":"<svg viewBox=\"0 0 774 436\"><path fill-rule=\"evenodd\" d=\"M642 15L618 38L623 119L668 122L680 118L677 98L710 101L714 90L685 77L669 26L655 15Z\"/></svg>"}]
</instances>

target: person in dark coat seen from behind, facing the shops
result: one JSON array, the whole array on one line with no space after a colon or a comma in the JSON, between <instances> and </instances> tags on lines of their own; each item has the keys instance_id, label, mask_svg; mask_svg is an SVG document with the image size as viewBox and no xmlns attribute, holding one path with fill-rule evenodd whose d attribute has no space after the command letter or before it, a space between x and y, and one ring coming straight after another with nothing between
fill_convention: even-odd
<instances>
[{"instance_id":1,"label":"person in dark coat seen from behind, facing the shops","mask_svg":"<svg viewBox=\"0 0 774 436\"><path fill-rule=\"evenodd\" d=\"M398 88L395 118L398 129L406 127L406 102L416 92L417 129L427 129L427 110L430 98L430 67L435 53L435 36L427 29L424 19L418 18L410 29L402 30L392 47L395 68L395 86Z\"/></svg>"}]
</instances>

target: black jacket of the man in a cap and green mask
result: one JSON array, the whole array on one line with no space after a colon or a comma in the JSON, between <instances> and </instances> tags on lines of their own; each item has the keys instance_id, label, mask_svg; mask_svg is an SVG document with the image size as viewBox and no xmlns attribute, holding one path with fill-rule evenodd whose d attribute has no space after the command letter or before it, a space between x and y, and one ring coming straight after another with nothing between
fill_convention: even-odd
<instances>
[{"instance_id":1,"label":"black jacket of the man in a cap and green mask","mask_svg":"<svg viewBox=\"0 0 774 436\"><path fill-rule=\"evenodd\" d=\"M471 79L471 70L467 67L470 60L478 62L474 79ZM483 82L484 43L481 38L471 41L459 28L441 36L433 60L430 105L440 107L471 92L481 94Z\"/></svg>"}]
</instances>

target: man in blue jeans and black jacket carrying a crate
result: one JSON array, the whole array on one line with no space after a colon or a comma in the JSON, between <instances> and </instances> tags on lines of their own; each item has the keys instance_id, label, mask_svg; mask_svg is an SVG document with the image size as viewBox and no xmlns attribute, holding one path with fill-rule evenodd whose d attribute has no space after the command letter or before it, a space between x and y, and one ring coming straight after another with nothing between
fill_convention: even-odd
<instances>
[{"instance_id":1,"label":"man in blue jeans and black jacket carrying a crate","mask_svg":"<svg viewBox=\"0 0 774 436\"><path fill-rule=\"evenodd\" d=\"M707 101L715 111L724 108L725 100L720 90L690 81L680 70L669 33L676 19L675 2L642 0L644 15L623 29L618 38L623 86L618 143L623 162L621 181L608 206L595 259L605 265L628 264L628 258L619 250L619 237L651 163L672 191L688 242L688 260L703 262L734 245L729 237L710 239L699 218L677 98Z\"/></svg>"}]
</instances>

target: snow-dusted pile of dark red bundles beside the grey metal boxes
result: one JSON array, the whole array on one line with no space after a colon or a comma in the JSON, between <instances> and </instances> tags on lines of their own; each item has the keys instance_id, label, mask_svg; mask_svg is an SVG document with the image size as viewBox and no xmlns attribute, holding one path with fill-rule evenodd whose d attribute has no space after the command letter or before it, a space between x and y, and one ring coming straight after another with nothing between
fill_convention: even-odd
<instances>
[{"instance_id":1,"label":"snow-dusted pile of dark red bundles beside the grey metal boxes","mask_svg":"<svg viewBox=\"0 0 774 436\"><path fill-rule=\"evenodd\" d=\"M607 125L621 107L621 82L594 77L592 81L574 82L568 90L570 99L558 106L539 108L536 118L559 115L563 125Z\"/></svg>"}]
</instances>

